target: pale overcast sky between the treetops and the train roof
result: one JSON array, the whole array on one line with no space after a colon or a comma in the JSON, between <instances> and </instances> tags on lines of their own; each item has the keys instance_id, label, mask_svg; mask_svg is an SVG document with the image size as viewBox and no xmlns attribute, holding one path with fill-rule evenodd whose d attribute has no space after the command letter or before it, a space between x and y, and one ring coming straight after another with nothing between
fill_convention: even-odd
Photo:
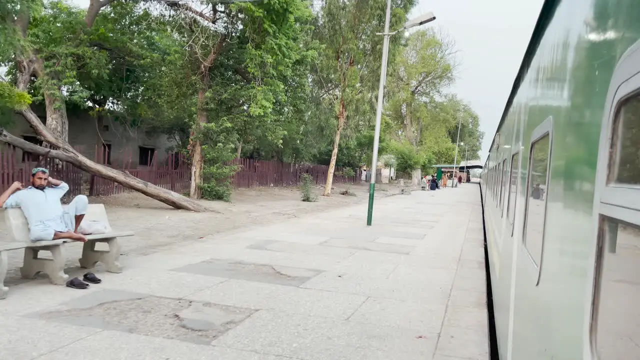
<instances>
[{"instance_id":1,"label":"pale overcast sky between the treetops and the train roof","mask_svg":"<svg viewBox=\"0 0 640 360\"><path fill-rule=\"evenodd\" d=\"M1 1L1 0L0 0ZM89 0L72 0L86 8ZM410 17L431 11L455 40L461 61L451 89L480 117L484 161L543 0L419 0Z\"/></svg>"}]
</instances>

